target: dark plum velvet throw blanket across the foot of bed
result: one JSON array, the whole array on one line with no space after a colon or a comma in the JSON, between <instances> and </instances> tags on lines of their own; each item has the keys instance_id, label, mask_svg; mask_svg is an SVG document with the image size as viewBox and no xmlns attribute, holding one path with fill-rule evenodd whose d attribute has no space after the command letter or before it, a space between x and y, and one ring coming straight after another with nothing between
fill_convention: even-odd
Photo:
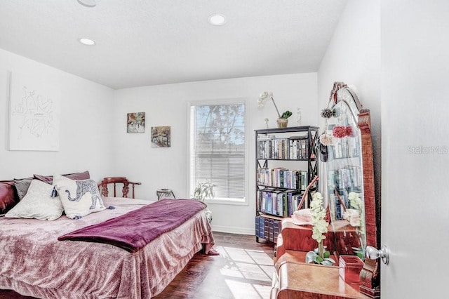
<instances>
[{"instance_id":1,"label":"dark plum velvet throw blanket across the foot of bed","mask_svg":"<svg viewBox=\"0 0 449 299\"><path fill-rule=\"evenodd\" d=\"M203 208L206 204L192 199L162 199L105 222L74 230L58 240L106 243L134 253Z\"/></svg>"}]
</instances>

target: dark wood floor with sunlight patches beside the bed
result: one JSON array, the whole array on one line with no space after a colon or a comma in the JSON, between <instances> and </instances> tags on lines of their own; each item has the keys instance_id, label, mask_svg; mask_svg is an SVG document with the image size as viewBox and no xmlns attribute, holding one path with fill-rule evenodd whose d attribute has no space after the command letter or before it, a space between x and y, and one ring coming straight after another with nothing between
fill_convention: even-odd
<instances>
[{"instance_id":1,"label":"dark wood floor with sunlight patches beside the bed","mask_svg":"<svg viewBox=\"0 0 449 299\"><path fill-rule=\"evenodd\" d=\"M274 244L255 236L214 232L220 255L196 253L154 299L268 299L274 274ZM25 299L0 291L0 299Z\"/></svg>"}]
</instances>

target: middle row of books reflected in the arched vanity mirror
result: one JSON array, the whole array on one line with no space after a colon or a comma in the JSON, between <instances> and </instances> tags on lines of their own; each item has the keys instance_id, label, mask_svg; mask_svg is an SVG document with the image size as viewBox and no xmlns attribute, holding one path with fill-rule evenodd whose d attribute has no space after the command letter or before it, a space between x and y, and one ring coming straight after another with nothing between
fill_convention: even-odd
<instances>
[{"instance_id":1,"label":"middle row of books reflected in the arched vanity mirror","mask_svg":"<svg viewBox=\"0 0 449 299\"><path fill-rule=\"evenodd\" d=\"M335 171L328 171L328 185L340 190L353 190L362 185L362 173L360 166L345 166Z\"/></svg>"}]
</instances>

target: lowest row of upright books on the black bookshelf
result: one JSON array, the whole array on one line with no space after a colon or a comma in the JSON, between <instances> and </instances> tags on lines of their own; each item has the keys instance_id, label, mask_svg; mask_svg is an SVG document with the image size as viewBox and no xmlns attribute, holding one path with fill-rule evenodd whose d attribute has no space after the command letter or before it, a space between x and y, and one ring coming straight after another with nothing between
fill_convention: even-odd
<instances>
[{"instance_id":1,"label":"lowest row of upright books on the black bookshelf","mask_svg":"<svg viewBox=\"0 0 449 299\"><path fill-rule=\"evenodd\" d=\"M280 217L290 217L302 199L298 190L267 187L257 191L257 211ZM307 207L307 203L305 203Z\"/></svg>"}]
</instances>

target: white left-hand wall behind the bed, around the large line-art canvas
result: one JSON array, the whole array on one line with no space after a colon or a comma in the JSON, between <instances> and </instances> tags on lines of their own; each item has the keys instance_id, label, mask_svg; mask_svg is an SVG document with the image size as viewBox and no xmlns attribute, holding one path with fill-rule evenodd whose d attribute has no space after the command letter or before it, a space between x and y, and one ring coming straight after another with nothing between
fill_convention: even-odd
<instances>
[{"instance_id":1,"label":"white left-hand wall behind the bed, around the large line-art canvas","mask_svg":"<svg viewBox=\"0 0 449 299\"><path fill-rule=\"evenodd\" d=\"M0 180L90 171L98 180L112 169L113 90L0 50ZM8 75L37 74L60 88L60 150L8 150Z\"/></svg>"}]
</instances>

